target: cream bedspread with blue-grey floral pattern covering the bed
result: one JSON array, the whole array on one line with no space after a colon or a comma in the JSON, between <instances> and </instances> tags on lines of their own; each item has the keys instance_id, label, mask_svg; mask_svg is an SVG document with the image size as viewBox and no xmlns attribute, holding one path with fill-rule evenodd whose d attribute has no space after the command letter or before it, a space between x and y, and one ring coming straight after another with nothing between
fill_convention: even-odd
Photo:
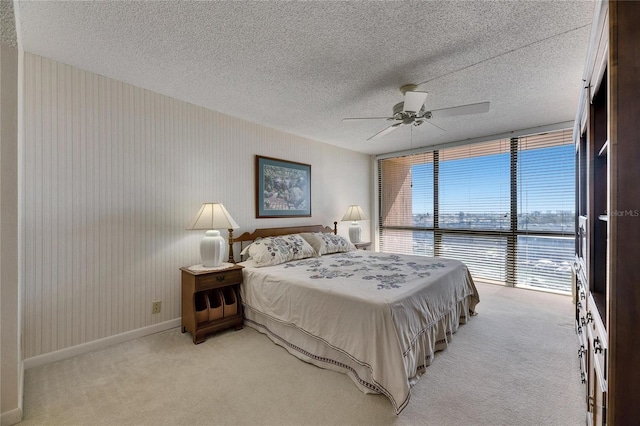
<instances>
[{"instance_id":1,"label":"cream bedspread with blue-grey floral pattern covering the bed","mask_svg":"<svg viewBox=\"0 0 640 426\"><path fill-rule=\"evenodd\" d=\"M396 413L434 351L479 302L467 267L456 260L355 251L242 265L247 313L339 351L350 360L341 364L353 365L347 369L356 384L385 394ZM313 357L313 349L294 348Z\"/></svg>"}]
</instances>

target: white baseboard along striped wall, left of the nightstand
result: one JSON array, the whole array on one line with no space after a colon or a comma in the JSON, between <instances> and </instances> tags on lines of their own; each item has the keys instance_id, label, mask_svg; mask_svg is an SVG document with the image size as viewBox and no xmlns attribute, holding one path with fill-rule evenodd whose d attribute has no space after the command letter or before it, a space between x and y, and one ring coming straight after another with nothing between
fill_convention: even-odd
<instances>
[{"instance_id":1,"label":"white baseboard along striped wall, left of the nightstand","mask_svg":"<svg viewBox=\"0 0 640 426\"><path fill-rule=\"evenodd\" d=\"M154 333L159 333L161 331L179 327L180 324L181 319L176 318L169 321L161 322L159 324L150 325L148 327L142 327L136 330L127 331L125 333L116 334L115 336L109 336L103 339L94 340L92 342L72 346L70 348L60 349L59 351L37 355L24 360L24 369L28 370L30 368L40 367L41 365L46 365L63 359L72 358L74 356L82 355L87 352L93 352L95 350L103 349L107 346L115 345L117 343L126 342L128 340L137 339L139 337L148 336Z\"/></svg>"}]
</instances>

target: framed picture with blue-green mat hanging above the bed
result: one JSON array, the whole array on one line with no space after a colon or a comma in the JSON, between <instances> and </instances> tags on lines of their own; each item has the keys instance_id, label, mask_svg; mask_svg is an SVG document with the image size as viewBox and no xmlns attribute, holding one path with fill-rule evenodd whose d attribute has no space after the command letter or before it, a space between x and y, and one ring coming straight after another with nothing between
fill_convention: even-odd
<instances>
[{"instance_id":1,"label":"framed picture with blue-green mat hanging above the bed","mask_svg":"<svg viewBox=\"0 0 640 426\"><path fill-rule=\"evenodd\" d=\"M311 216L311 166L256 155L256 217Z\"/></svg>"}]
</instances>

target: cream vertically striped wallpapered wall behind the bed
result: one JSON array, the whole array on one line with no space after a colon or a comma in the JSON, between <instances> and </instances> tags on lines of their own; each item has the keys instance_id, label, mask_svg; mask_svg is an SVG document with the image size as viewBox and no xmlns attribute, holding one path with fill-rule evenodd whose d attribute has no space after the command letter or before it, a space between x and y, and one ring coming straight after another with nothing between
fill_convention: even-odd
<instances>
[{"instance_id":1,"label":"cream vertically striped wallpapered wall behind the bed","mask_svg":"<svg viewBox=\"0 0 640 426\"><path fill-rule=\"evenodd\" d=\"M23 90L25 358L179 318L203 202L224 203L239 232L329 225L372 202L364 154L28 53ZM256 154L311 164L312 218L255 218Z\"/></svg>"}]
</instances>

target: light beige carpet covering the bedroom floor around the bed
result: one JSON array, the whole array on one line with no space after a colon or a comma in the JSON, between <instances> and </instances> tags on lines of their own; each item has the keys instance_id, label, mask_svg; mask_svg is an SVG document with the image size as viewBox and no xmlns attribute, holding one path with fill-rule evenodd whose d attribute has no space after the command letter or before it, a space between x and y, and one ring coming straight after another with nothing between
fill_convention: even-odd
<instances>
[{"instance_id":1,"label":"light beige carpet covering the bedroom floor around the bed","mask_svg":"<svg viewBox=\"0 0 640 426\"><path fill-rule=\"evenodd\" d=\"M479 314L396 416L245 327L173 329L25 372L21 425L583 425L567 296L478 283Z\"/></svg>"}]
</instances>

